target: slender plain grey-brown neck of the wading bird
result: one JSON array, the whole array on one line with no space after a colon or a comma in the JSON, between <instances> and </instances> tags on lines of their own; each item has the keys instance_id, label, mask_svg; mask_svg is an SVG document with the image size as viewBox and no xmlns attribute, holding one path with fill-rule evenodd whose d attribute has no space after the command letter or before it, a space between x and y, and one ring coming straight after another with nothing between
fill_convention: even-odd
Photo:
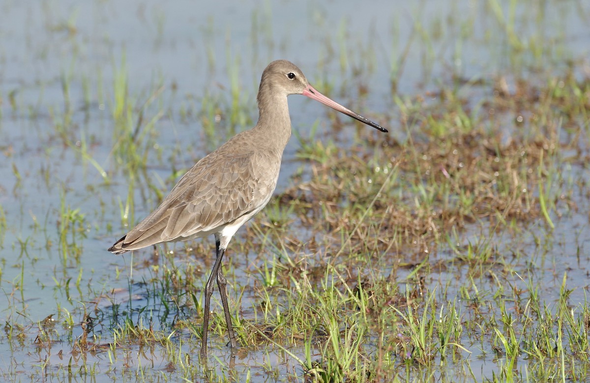
<instances>
[{"instance_id":1,"label":"slender plain grey-brown neck of the wading bird","mask_svg":"<svg viewBox=\"0 0 590 383\"><path fill-rule=\"evenodd\" d=\"M274 145L281 152L291 136L291 119L287 96L274 96L270 99L258 99L259 130L267 143Z\"/></svg>"}]
</instances>

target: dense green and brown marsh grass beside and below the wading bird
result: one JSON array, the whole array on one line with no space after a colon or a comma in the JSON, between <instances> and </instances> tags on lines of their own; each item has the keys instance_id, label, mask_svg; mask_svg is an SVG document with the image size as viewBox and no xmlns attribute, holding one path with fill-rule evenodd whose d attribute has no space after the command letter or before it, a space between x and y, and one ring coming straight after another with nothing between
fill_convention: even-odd
<instances>
[{"instance_id":1,"label":"dense green and brown marsh grass beside and below the wading bird","mask_svg":"<svg viewBox=\"0 0 590 383\"><path fill-rule=\"evenodd\" d=\"M204 370L195 358L214 250L205 242L142 257L129 289L82 305L80 323L61 309L34 326L9 319L6 339L35 338L50 352L69 337L68 360L53 373L61 376L123 368L127 378L152 379L159 366L191 381L281 380L281 371L321 382L585 379L588 304L571 299L567 272L548 302L535 259L551 246L539 237L576 211L576 189L587 188L576 176L584 156L571 153L584 153L588 84L566 75L503 93L502 82L470 84L489 94L476 107L464 91L403 100L405 141L365 130L349 146L335 145L336 136L317 143L314 129L297 137L309 177L277 195L228 253L238 361L219 356L227 336L219 307L215 367ZM518 116L526 116L522 125ZM131 198L121 202L122 222ZM63 201L58 230L70 264L86 224L65 194ZM533 247L519 237L533 238ZM79 290L81 273L55 282ZM284 370L271 362L277 355ZM482 371L481 361L492 367Z\"/></svg>"}]
</instances>

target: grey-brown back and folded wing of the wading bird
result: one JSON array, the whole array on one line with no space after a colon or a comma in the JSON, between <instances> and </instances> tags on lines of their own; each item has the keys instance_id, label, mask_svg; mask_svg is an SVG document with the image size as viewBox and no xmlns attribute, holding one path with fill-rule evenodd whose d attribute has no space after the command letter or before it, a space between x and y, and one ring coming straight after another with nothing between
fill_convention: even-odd
<instances>
[{"instance_id":1,"label":"grey-brown back and folded wing of the wading bird","mask_svg":"<svg viewBox=\"0 0 590 383\"><path fill-rule=\"evenodd\" d=\"M284 149L259 145L261 140L264 136L256 129L247 130L202 158L162 204L109 251L120 254L205 237L252 217L273 194Z\"/></svg>"}]
</instances>

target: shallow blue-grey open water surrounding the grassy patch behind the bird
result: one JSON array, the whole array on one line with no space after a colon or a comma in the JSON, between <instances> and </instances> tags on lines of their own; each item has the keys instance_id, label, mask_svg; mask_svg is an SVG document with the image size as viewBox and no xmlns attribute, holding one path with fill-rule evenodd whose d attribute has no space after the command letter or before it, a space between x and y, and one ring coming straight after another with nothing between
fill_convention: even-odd
<instances>
[{"instance_id":1,"label":"shallow blue-grey open water surrounding the grassy patch behind the bird","mask_svg":"<svg viewBox=\"0 0 590 383\"><path fill-rule=\"evenodd\" d=\"M127 200L128 182L112 152L113 88L120 73L127 74L126 91L135 103L134 110L148 104L146 119L164 111L156 122L157 136L148 140L152 149L147 177L159 189L168 190L175 179L171 169L188 168L236 131L253 125L261 71L276 58L293 61L324 94L390 127L391 135L403 139L405 133L396 129L398 108L392 100L391 77L409 40L417 42L408 51L396 83L400 96L424 93L451 74L470 80L509 71L527 78L532 76L531 67L548 66L557 71L566 61L589 54L590 11L584 4L550 2L545 14L531 15L529 24L517 24L522 41L555 41L550 45L553 48L537 57L507 54L509 37L490 36L497 26L484 17L493 12L489 6L474 1L408 4L375 1L359 9L353 1L322 5L312 1L205 2L198 6L189 1L164 5L151 0L2 2L0 218L5 217L6 225L0 224L0 286L5 297L0 301L0 312L7 322L24 326L26 335L17 346L10 336L0 337L0 374L26 380L42 371L41 361L54 371L67 366L71 355L62 358L31 344L37 332L35 323L50 315L71 313L76 324L72 329L61 322L53 326L55 333L71 330L71 336L76 337L81 333L77 325L83 315L81 307L91 307L89 302L97 302L102 309L112 306L110 298L97 300L112 289L120 289L116 303L122 306L128 300L137 307L156 306L149 303L146 291L150 287L140 283L153 273L140 265L149 251L138 253L133 260L106 251L126 232L120 204ZM528 11L526 5L516 6L515 17L520 19ZM440 40L421 41L419 28L440 30ZM237 86L238 102L245 112L235 126L231 126L230 116L219 116L215 135L208 136L201 129L203 116L199 114L205 94L227 106ZM361 87L368 92L359 94ZM153 94L157 100L152 103ZM327 116L332 114L320 104L297 96L291 96L289 103L293 128L302 136L309 135L317 121L319 132L329 126ZM60 125L67 128L60 130ZM342 140L351 141L354 135L350 129ZM291 176L305 165L294 159L298 145L292 138L287 146L277 192L291 186ZM73 148L86 150L112 183L104 182L99 167ZM566 171L573 178L589 177L588 169ZM140 188L133 195L129 218L136 222L157 201L153 193ZM546 228L539 222L527 227L529 235L512 244L512 249L501 249L517 248L530 254L538 274L520 277L542 280L547 302L558 299L565 272L568 283L581 287L572 292L571 301L586 300L588 202L583 193L573 198L578 211L562 217L551 235L545 237ZM69 214L64 213L67 211ZM75 228L68 231L65 241L70 245L65 247L60 245L64 214L73 219ZM462 234L462 245L477 242L478 235ZM535 240L539 236L543 237L540 245ZM501 243L503 238L491 240ZM67 251L76 247L78 257ZM550 248L551 253L543 248ZM179 258L177 266L195 262L206 274L211 262L206 257L209 254ZM452 254L441 251L437 257L446 259ZM133 271L132 262L136 265ZM254 284L258 278L247 256L235 261L233 267L231 272L241 286ZM448 279L457 274L461 270L433 273L432 277ZM132 286L130 280L134 281ZM519 277L513 282L518 284ZM428 283L436 284L437 280ZM238 293L231 294L237 297ZM248 306L254 304L251 296L245 292L241 300L247 313ZM162 307L154 307L154 311L163 315ZM165 369L158 353L158 349L140 352L140 361L135 359L137 353L130 352L129 363ZM229 363L225 349L214 353L224 364ZM276 359L263 360L269 355ZM116 379L116 369L122 364L109 364L104 353L93 358L86 362L96 365L99 380ZM250 369L253 381L281 380L293 369L299 371L292 363L285 361L281 352L251 353L238 356L243 371L238 367L237 374L242 376ZM266 375L263 366L268 364L275 366L277 377ZM476 364L472 361L471 366ZM486 359L481 359L481 372L476 372L476 377L489 378L489 371Z\"/></svg>"}]
</instances>

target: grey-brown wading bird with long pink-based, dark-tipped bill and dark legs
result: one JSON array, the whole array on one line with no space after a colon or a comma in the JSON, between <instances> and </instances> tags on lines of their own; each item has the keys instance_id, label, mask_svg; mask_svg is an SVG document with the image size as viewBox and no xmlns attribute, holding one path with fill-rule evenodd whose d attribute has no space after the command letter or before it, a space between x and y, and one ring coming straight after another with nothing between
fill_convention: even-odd
<instances>
[{"instance_id":1,"label":"grey-brown wading bird with long pink-based, dark-tipped bill and dark legs","mask_svg":"<svg viewBox=\"0 0 590 383\"><path fill-rule=\"evenodd\" d=\"M232 236L270 200L277 185L281 156L291 136L287 96L303 94L363 123L387 132L323 96L294 64L268 64L258 89L257 125L228 140L197 162L174 186L162 204L109 248L114 254L162 242L215 235L217 258L205 287L201 356L207 354L209 302L217 280L232 351L237 348L225 292L221 260Z\"/></svg>"}]
</instances>

